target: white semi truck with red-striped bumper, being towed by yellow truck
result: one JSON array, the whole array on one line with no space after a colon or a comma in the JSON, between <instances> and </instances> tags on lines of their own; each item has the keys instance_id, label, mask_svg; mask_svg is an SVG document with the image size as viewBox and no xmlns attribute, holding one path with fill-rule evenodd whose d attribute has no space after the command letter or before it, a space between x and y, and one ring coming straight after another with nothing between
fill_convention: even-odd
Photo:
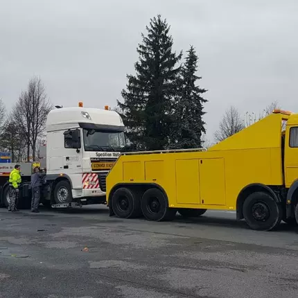
<instances>
[{"instance_id":1,"label":"white semi truck with red-striped bumper, being towed by yellow truck","mask_svg":"<svg viewBox=\"0 0 298 298\"><path fill-rule=\"evenodd\" d=\"M51 110L46 119L46 145L40 148L40 166L46 172L42 204L53 208L106 204L105 178L124 148L123 121L109 107L86 108L80 102L78 107ZM13 164L1 182L1 204L5 206L9 203L12 168ZM30 207L32 168L30 163L21 164L21 207Z\"/></svg>"}]
</instances>

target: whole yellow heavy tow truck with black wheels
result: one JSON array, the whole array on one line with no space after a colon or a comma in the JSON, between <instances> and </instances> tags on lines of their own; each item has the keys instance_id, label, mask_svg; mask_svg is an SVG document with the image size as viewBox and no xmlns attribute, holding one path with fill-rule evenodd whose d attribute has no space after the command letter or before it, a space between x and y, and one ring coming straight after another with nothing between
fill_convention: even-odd
<instances>
[{"instance_id":1,"label":"whole yellow heavy tow truck with black wheels","mask_svg":"<svg viewBox=\"0 0 298 298\"><path fill-rule=\"evenodd\" d=\"M274 110L208 150L123 153L107 175L111 216L173 220L236 211L255 230L298 222L298 114Z\"/></svg>"}]
</instances>

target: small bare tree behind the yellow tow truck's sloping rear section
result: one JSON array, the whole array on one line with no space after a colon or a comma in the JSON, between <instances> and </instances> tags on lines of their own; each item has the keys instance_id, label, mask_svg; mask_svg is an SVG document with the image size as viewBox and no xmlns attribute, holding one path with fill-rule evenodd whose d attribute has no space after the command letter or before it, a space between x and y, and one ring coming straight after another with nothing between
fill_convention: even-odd
<instances>
[{"instance_id":1,"label":"small bare tree behind the yellow tow truck's sloping rear section","mask_svg":"<svg viewBox=\"0 0 298 298\"><path fill-rule=\"evenodd\" d=\"M236 132L240 132L245 128L243 119L241 119L240 113L236 107L231 106L226 110L220 121L219 129L214 133L216 141L222 141L231 137Z\"/></svg>"}]
</instances>

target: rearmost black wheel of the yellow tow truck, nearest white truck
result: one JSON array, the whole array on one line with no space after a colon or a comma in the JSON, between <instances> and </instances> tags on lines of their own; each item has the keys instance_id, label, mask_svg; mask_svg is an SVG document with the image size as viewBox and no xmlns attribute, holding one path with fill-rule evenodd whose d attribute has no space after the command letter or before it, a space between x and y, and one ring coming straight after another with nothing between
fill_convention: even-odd
<instances>
[{"instance_id":1,"label":"rearmost black wheel of the yellow tow truck, nearest white truck","mask_svg":"<svg viewBox=\"0 0 298 298\"><path fill-rule=\"evenodd\" d=\"M137 192L125 187L117 189L112 195L112 209L119 218L136 218L140 216L140 198Z\"/></svg>"}]
</instances>

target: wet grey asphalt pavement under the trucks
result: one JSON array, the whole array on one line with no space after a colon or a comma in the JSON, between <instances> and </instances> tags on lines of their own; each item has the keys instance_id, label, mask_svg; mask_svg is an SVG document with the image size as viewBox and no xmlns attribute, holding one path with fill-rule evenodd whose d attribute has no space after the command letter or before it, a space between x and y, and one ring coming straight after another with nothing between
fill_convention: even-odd
<instances>
[{"instance_id":1,"label":"wet grey asphalt pavement under the trucks","mask_svg":"<svg viewBox=\"0 0 298 298\"><path fill-rule=\"evenodd\" d=\"M298 228L228 211L173 222L107 207L0 209L0 297L298 297Z\"/></svg>"}]
</instances>

